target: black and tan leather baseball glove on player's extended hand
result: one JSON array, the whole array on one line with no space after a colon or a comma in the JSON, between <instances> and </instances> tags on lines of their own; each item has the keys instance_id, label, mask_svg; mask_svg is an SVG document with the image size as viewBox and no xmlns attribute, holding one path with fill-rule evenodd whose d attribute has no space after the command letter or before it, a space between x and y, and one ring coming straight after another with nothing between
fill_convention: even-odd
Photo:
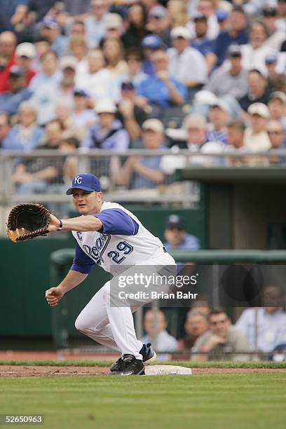
<instances>
[{"instance_id":1,"label":"black and tan leather baseball glove on player's extended hand","mask_svg":"<svg viewBox=\"0 0 286 429\"><path fill-rule=\"evenodd\" d=\"M7 236L14 243L45 236L50 223L50 212L41 204L18 204L8 216Z\"/></svg>"}]
</instances>

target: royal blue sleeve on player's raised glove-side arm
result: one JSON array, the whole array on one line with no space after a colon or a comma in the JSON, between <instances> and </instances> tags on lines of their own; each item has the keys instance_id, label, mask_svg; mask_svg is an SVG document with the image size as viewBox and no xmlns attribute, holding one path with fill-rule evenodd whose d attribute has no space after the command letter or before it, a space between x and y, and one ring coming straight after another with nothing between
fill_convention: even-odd
<instances>
[{"instance_id":1,"label":"royal blue sleeve on player's raised glove-side arm","mask_svg":"<svg viewBox=\"0 0 286 429\"><path fill-rule=\"evenodd\" d=\"M136 236L139 225L121 209L107 209L95 214L101 220L102 233L116 236Z\"/></svg>"}]
</instances>

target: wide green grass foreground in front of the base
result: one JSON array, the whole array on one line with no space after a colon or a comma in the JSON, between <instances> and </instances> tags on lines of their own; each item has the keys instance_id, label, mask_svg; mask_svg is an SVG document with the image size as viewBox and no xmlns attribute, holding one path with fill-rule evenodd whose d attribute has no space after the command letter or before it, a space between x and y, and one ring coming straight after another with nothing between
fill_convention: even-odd
<instances>
[{"instance_id":1,"label":"wide green grass foreground in front of the base","mask_svg":"<svg viewBox=\"0 0 286 429\"><path fill-rule=\"evenodd\" d=\"M285 403L281 372L0 379L1 414L44 414L45 429L284 429Z\"/></svg>"}]
</instances>

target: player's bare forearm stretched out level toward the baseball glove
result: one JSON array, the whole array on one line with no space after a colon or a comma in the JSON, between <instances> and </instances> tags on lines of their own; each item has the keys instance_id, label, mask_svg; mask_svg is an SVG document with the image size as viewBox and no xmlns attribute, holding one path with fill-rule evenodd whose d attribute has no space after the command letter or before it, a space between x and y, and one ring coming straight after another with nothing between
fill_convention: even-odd
<instances>
[{"instance_id":1,"label":"player's bare forearm stretched out level toward the baseball glove","mask_svg":"<svg viewBox=\"0 0 286 429\"><path fill-rule=\"evenodd\" d=\"M57 231L60 227L60 219L50 214L50 224L48 231ZM102 222L92 214L86 216L71 217L71 219L62 219L62 231L100 231Z\"/></svg>"}]
</instances>

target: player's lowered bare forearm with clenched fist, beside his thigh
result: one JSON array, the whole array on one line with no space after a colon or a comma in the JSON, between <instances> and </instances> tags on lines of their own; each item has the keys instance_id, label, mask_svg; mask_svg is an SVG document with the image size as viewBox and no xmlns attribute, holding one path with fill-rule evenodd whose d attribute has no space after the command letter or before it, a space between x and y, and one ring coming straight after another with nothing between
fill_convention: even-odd
<instances>
[{"instance_id":1,"label":"player's lowered bare forearm with clenched fist, beside his thigh","mask_svg":"<svg viewBox=\"0 0 286 429\"><path fill-rule=\"evenodd\" d=\"M51 307L57 306L64 294L69 292L69 290L74 289L74 287L78 286L87 277L88 274L70 270L64 280L60 282L60 285L57 287L50 287L50 289L46 290L46 300L48 301L48 305Z\"/></svg>"}]
</instances>

